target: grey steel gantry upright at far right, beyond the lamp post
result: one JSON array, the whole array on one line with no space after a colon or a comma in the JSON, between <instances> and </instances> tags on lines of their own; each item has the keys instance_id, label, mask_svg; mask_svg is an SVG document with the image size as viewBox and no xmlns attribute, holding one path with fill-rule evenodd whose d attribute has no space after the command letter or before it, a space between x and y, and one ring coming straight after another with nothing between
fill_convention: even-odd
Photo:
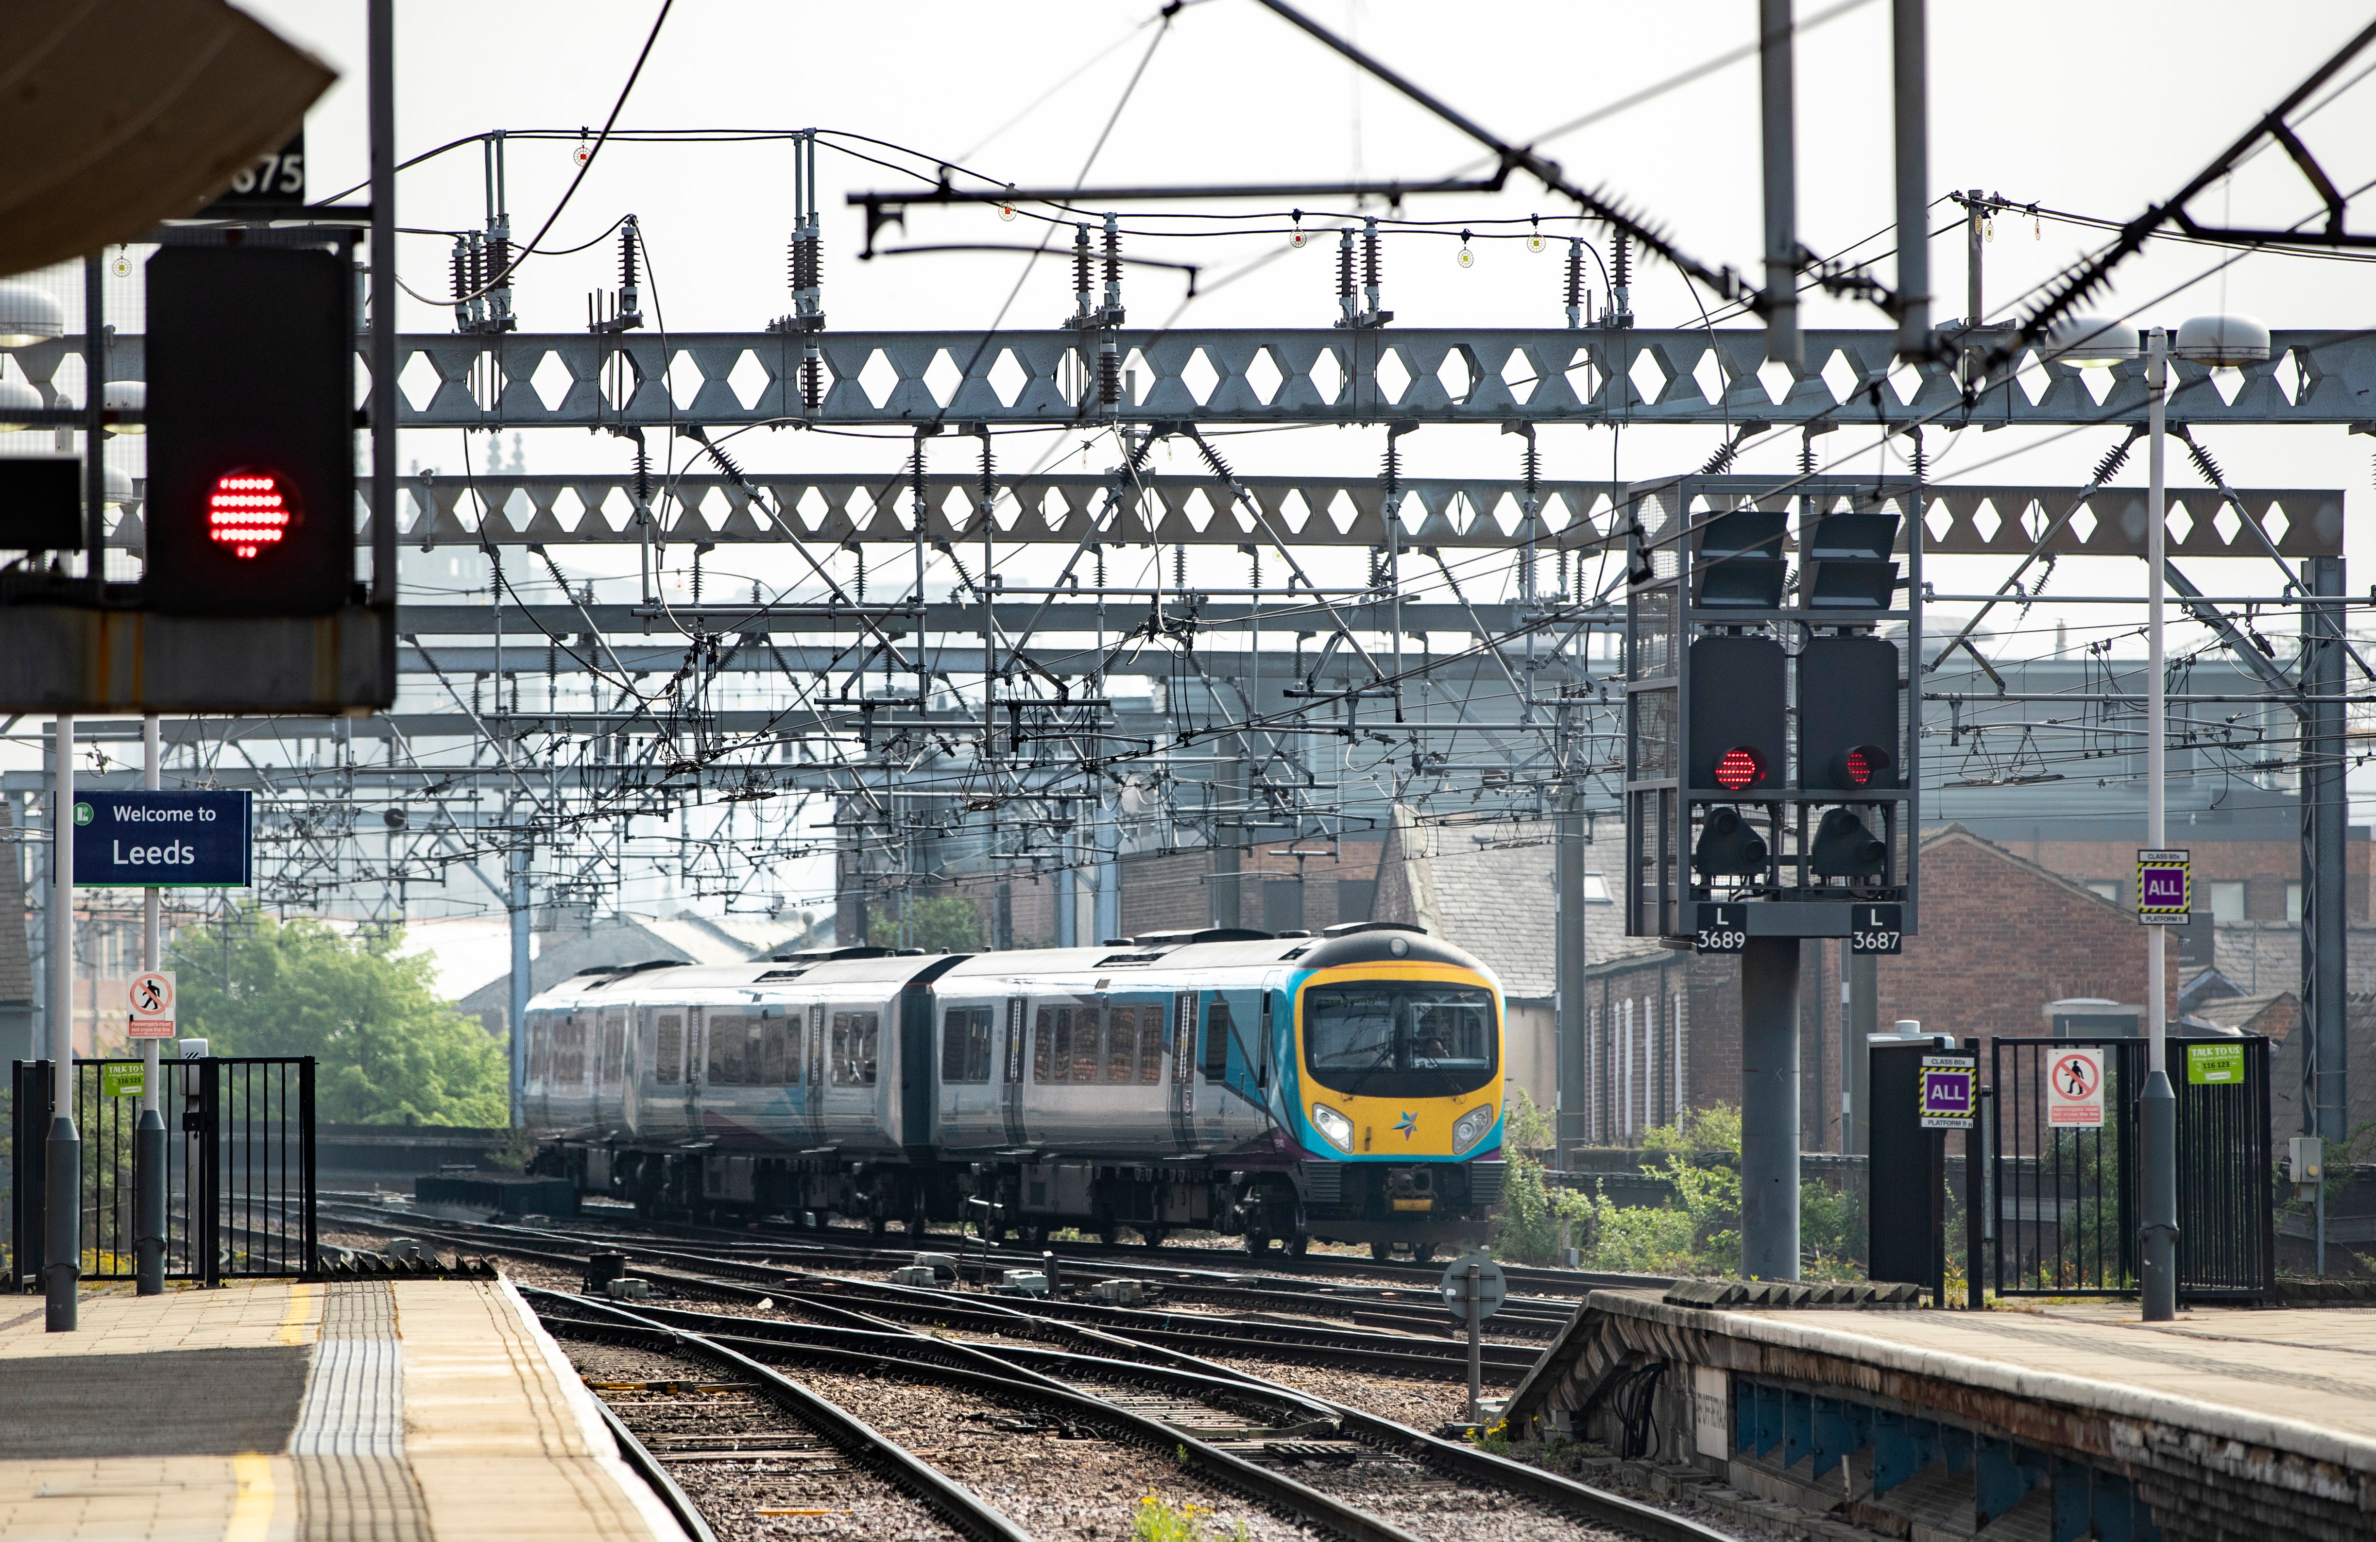
<instances>
[{"instance_id":1,"label":"grey steel gantry upright at far right, beyond the lamp post","mask_svg":"<svg viewBox=\"0 0 2376 1542\"><path fill-rule=\"evenodd\" d=\"M2331 603L2302 606L2302 1024L2309 1031L2302 1062L2302 1131L2326 1150L2350 1136L2345 1100L2347 1038L2345 988L2350 908L2343 898L2345 822L2350 817L2343 775L2347 763L2343 722L2343 558L2312 556L2302 582ZM2326 1257L2326 1186L2319 1183L2317 1252Z\"/></svg>"}]
</instances>

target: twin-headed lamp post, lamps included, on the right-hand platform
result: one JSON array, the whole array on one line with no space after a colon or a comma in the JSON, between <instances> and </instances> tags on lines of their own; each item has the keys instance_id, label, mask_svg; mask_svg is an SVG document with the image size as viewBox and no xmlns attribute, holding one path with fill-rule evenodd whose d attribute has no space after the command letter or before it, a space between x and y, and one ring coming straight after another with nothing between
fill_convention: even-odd
<instances>
[{"instance_id":1,"label":"twin-headed lamp post, lamps included, on the right-hand platform","mask_svg":"<svg viewBox=\"0 0 2376 1542\"><path fill-rule=\"evenodd\" d=\"M2198 316L2179 328L2184 356L2210 366L2260 364L2269 330L2250 316ZM2048 352L2065 364L2146 359L2146 843L2169 843L2165 763L2169 703L2162 680L2162 594L2167 575L2169 485L2165 478L2165 416L2169 406L2169 333L2148 328L2136 345L2134 323L2067 316L2048 335ZM2138 896L2138 919L2143 896ZM2162 927L2146 927L2146 1091L2138 1100L2138 1295L2148 1323L2179 1314L2179 1102L2169 1086L2169 986Z\"/></svg>"}]
</instances>

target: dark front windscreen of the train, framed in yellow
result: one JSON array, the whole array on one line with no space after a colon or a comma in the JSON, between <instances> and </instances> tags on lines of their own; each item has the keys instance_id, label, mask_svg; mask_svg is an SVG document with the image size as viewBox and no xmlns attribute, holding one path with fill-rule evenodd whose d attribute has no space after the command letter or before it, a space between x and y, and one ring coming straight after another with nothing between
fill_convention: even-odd
<instances>
[{"instance_id":1,"label":"dark front windscreen of the train, framed in yellow","mask_svg":"<svg viewBox=\"0 0 2376 1542\"><path fill-rule=\"evenodd\" d=\"M1449 1098L1499 1072L1492 993L1404 979L1304 991L1304 1067L1347 1098Z\"/></svg>"}]
</instances>

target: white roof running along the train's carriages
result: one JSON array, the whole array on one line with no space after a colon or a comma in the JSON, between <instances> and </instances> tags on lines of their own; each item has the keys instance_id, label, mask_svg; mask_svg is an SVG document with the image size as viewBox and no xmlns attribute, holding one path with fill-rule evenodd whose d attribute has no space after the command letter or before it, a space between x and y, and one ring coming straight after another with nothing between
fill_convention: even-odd
<instances>
[{"instance_id":1,"label":"white roof running along the train's carriages","mask_svg":"<svg viewBox=\"0 0 2376 1542\"><path fill-rule=\"evenodd\" d=\"M1045 974L1112 974L1145 969L1176 974L1183 969L1266 969L1293 962L1304 969L1331 969L1361 962L1442 962L1492 969L1466 948L1402 922L1350 922L1321 936L1245 931L1212 927L1205 931L1157 931L1117 939L1102 948L1010 948L1003 953L922 953L893 948L822 948L779 953L744 965L680 965L651 960L639 965L604 965L539 991L568 996L584 1005L653 996L699 996L706 991L753 991L765 986L870 986L889 993L917 977L927 979L1015 979Z\"/></svg>"}]
</instances>

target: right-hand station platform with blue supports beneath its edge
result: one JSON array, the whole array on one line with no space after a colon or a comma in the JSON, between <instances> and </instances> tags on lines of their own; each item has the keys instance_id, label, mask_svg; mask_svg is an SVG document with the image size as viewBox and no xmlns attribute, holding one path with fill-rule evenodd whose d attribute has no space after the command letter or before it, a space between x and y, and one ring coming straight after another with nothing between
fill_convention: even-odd
<instances>
[{"instance_id":1,"label":"right-hand station platform with blue supports beneath its edge","mask_svg":"<svg viewBox=\"0 0 2376 1542\"><path fill-rule=\"evenodd\" d=\"M1594 1290L1511 1395L1511 1430L1651 1445L1685 1480L1913 1542L2376 1537L2376 1309L2141 1323L2119 1300L1692 1295Z\"/></svg>"}]
</instances>

